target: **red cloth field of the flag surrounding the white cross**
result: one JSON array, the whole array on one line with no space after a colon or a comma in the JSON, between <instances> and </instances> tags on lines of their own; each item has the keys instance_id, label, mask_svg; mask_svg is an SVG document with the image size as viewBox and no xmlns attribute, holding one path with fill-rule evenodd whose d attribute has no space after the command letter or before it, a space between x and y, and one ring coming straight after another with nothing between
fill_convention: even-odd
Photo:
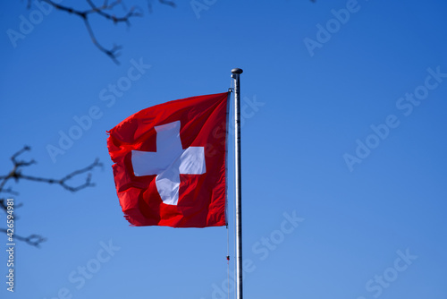
<instances>
[{"instance_id":1,"label":"red cloth field of the flag surrounding the white cross","mask_svg":"<svg viewBox=\"0 0 447 299\"><path fill-rule=\"evenodd\" d=\"M114 182L125 218L132 226L224 226L228 93L183 98L148 107L108 133ZM136 176L131 150L156 152L155 126L181 122L182 149L205 148L206 173L180 175L179 201L167 205L156 175Z\"/></svg>"}]
</instances>

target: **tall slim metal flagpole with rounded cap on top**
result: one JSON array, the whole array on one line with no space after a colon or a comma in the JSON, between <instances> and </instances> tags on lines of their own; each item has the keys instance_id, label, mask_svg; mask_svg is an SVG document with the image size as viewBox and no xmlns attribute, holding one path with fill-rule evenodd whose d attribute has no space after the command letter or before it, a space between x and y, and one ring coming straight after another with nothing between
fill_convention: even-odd
<instances>
[{"instance_id":1,"label":"tall slim metal flagpole with rounded cap on top","mask_svg":"<svg viewBox=\"0 0 447 299\"><path fill-rule=\"evenodd\" d=\"M242 191L240 163L240 81L243 71L232 69L234 79L234 166L235 166L235 209L236 209L236 298L242 299Z\"/></svg>"}]
</instances>

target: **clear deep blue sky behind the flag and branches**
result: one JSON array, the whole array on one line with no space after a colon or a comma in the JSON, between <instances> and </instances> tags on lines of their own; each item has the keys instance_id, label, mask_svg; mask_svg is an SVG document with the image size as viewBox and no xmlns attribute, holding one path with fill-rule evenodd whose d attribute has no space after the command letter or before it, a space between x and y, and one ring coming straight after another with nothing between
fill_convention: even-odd
<instances>
[{"instance_id":1,"label":"clear deep blue sky behind the flag and branches","mask_svg":"<svg viewBox=\"0 0 447 299\"><path fill-rule=\"evenodd\" d=\"M0 297L226 298L232 184L226 280L224 227L129 226L105 131L145 107L224 92L240 67L245 297L445 299L447 3L176 2L148 13L125 1L145 14L130 28L94 18L105 47L122 45L119 65L80 18L3 4L0 175L25 144L30 175L104 167L75 193L10 184L23 203L15 233L47 241L17 242L11 293L0 235ZM230 155L230 182L232 170Z\"/></svg>"}]
</instances>

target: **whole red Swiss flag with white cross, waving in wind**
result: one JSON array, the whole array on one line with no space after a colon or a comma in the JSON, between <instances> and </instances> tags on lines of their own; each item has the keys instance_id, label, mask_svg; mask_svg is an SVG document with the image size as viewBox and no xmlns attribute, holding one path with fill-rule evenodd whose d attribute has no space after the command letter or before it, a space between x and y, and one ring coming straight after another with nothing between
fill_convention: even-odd
<instances>
[{"instance_id":1,"label":"whole red Swiss flag with white cross, waving in wind","mask_svg":"<svg viewBox=\"0 0 447 299\"><path fill-rule=\"evenodd\" d=\"M228 92L173 100L108 133L114 183L132 226L225 226Z\"/></svg>"}]
</instances>

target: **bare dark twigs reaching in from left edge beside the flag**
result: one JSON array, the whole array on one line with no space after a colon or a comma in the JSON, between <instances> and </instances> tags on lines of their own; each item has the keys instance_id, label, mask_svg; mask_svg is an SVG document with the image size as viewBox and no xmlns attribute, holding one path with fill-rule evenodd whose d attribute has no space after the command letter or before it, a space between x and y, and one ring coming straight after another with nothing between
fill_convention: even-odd
<instances>
[{"instance_id":1,"label":"bare dark twigs reaching in from left edge beside the flag","mask_svg":"<svg viewBox=\"0 0 447 299\"><path fill-rule=\"evenodd\" d=\"M15 181L15 183L18 183L20 180L28 180L46 184L59 184L63 187L63 189L68 190L70 192L78 192L81 189L95 186L94 183L91 183L91 173L89 173L89 171L93 170L95 167L102 167L102 163L99 162L99 159L95 159L95 161L93 161L93 163L91 163L89 166L75 170L72 173L65 175L59 179L39 177L34 175L24 175L22 173L23 167L30 167L37 163L34 159L30 159L28 161L19 159L19 156L21 156L21 154L30 150L31 149L29 146L24 146L22 149L18 150L13 154L13 156L11 157L11 160L13 162L13 169L9 172L8 175L0 175L0 193L19 195L18 192L13 191L12 187L5 188L6 184L12 180ZM69 184L69 181L72 178L82 174L87 174L84 183L77 185ZM21 203L15 205L14 208L17 209L20 207ZM6 204L5 198L0 198L0 209L3 209L5 213L7 212L8 206ZM0 228L0 232L4 232L6 234L7 230L4 228ZM46 239L43 236L35 234L29 235L27 237L14 234L14 237L17 240L24 241L36 247L38 247L40 243L46 241Z\"/></svg>"}]
</instances>

